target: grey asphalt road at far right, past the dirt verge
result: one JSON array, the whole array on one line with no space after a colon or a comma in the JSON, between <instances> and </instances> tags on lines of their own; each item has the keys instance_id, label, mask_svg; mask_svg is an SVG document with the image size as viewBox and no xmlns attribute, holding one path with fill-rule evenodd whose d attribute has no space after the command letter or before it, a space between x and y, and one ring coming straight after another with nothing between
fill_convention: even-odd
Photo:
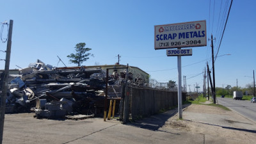
<instances>
[{"instance_id":1,"label":"grey asphalt road at far right, past the dirt verge","mask_svg":"<svg viewBox=\"0 0 256 144\"><path fill-rule=\"evenodd\" d=\"M251 103L250 100L234 100L231 98L217 98L218 104L230 108L246 118L256 122L256 103Z\"/></svg>"}]
</instances>

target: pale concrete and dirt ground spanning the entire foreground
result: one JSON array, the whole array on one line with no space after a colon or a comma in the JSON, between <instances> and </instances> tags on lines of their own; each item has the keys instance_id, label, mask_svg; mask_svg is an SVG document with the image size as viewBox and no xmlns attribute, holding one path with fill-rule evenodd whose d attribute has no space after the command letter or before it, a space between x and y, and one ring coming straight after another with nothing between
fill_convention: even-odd
<instances>
[{"instance_id":1,"label":"pale concrete and dirt ground spanning the entire foreground","mask_svg":"<svg viewBox=\"0 0 256 144\"><path fill-rule=\"evenodd\" d=\"M103 118L47 120L33 118L33 113L7 114L3 143L254 144L256 141L255 122L234 111L192 104L182 112L182 120L175 113L177 109L172 109L127 125L119 120L104 122Z\"/></svg>"}]
</instances>

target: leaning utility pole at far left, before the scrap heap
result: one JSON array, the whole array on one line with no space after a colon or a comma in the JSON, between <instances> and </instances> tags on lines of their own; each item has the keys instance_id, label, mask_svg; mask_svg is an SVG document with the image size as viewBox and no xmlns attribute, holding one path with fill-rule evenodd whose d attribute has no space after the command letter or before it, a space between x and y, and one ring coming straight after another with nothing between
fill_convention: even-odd
<instances>
[{"instance_id":1,"label":"leaning utility pole at far left, before the scrap heap","mask_svg":"<svg viewBox=\"0 0 256 144\"><path fill-rule=\"evenodd\" d=\"M1 81L3 81L3 85L1 86L0 144L2 144L3 142L5 103L6 103L7 84L8 84L8 77L9 77L9 67L10 67L11 47L12 47L12 26L13 26L13 20L10 20L8 42L7 42L7 48L6 48L4 76L2 77L3 79L1 79Z\"/></svg>"}]
</instances>

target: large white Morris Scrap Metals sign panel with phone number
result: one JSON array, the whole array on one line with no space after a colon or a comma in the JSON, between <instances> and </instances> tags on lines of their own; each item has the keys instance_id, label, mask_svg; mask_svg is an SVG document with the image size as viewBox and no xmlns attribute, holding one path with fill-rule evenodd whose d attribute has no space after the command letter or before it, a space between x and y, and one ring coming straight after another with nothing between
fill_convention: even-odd
<instances>
[{"instance_id":1,"label":"large white Morris Scrap Metals sign panel with phone number","mask_svg":"<svg viewBox=\"0 0 256 144\"><path fill-rule=\"evenodd\" d=\"M206 45L205 20L155 26L155 49Z\"/></svg>"}]
</instances>

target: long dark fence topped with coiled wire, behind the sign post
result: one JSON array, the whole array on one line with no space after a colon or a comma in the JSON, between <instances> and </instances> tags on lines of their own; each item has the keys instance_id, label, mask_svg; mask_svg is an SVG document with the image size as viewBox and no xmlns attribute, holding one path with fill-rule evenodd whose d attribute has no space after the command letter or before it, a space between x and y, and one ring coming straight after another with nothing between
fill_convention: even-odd
<instances>
[{"instance_id":1,"label":"long dark fence topped with coiled wire, behind the sign post","mask_svg":"<svg viewBox=\"0 0 256 144\"><path fill-rule=\"evenodd\" d=\"M125 97L127 97L127 108L124 111L129 113L132 120L140 119L159 113L161 109L169 109L178 105L177 92L152 88L136 88L127 86ZM186 100L186 93L182 93L182 101ZM126 103L126 102L125 102ZM125 114L125 112L124 112ZM129 118L129 116L124 116ZM126 121L126 120L125 120Z\"/></svg>"}]
</instances>

